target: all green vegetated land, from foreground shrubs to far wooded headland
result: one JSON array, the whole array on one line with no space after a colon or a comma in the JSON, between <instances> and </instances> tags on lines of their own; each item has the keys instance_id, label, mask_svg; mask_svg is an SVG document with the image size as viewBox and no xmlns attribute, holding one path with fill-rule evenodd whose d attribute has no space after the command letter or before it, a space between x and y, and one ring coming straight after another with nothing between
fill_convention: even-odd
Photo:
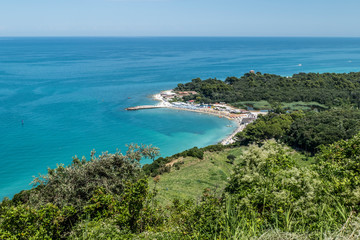
<instances>
[{"instance_id":1,"label":"all green vegetated land, from foreground shrubs to far wooded headland","mask_svg":"<svg viewBox=\"0 0 360 240\"><path fill-rule=\"evenodd\" d=\"M179 84L198 93L185 101L270 111L232 145L168 157L130 145L48 169L2 201L0 238L359 239L359 83L360 73L247 73Z\"/></svg>"}]
</instances>

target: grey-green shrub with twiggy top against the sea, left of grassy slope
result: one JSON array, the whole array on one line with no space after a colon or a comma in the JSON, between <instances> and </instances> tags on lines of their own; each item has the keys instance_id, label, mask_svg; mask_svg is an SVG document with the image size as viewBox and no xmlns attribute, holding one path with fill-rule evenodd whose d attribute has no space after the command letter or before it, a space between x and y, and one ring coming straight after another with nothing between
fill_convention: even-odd
<instances>
[{"instance_id":1,"label":"grey-green shrub with twiggy top against the sea, left of grassy slope","mask_svg":"<svg viewBox=\"0 0 360 240\"><path fill-rule=\"evenodd\" d=\"M71 165L48 169L48 174L34 179L37 187L30 191L29 202L37 206L53 203L56 206L82 207L99 187L107 193L121 195L127 182L141 178L140 159L154 158L158 149L151 146L130 145L126 155L103 153L90 161L74 158Z\"/></svg>"}]
</instances>

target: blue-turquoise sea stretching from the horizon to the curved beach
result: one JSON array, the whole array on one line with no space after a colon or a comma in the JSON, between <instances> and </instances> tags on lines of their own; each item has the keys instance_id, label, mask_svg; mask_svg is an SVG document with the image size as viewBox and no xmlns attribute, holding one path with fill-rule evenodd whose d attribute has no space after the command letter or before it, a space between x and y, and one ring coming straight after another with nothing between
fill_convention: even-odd
<instances>
[{"instance_id":1,"label":"blue-turquoise sea stretching from the horizon to the curved beach","mask_svg":"<svg viewBox=\"0 0 360 240\"><path fill-rule=\"evenodd\" d=\"M196 77L251 69L360 71L360 39L0 38L0 198L92 149L124 151L134 142L167 156L218 142L233 130L228 120L124 108L154 103L149 95Z\"/></svg>"}]
</instances>

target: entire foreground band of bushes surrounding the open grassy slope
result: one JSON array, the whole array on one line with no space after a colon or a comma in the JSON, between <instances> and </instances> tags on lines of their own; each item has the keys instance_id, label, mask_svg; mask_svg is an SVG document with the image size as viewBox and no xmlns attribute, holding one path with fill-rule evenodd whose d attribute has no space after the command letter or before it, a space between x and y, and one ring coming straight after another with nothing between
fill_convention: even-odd
<instances>
[{"instance_id":1,"label":"entire foreground band of bushes surrounding the open grassy slope","mask_svg":"<svg viewBox=\"0 0 360 240\"><path fill-rule=\"evenodd\" d=\"M225 190L205 189L198 202L173 199L167 207L156 200L161 179L155 178L150 190L136 160L156 156L156 149L135 148L125 156L104 154L81 163L75 159L68 167L49 170L40 187L2 202L0 237L357 239L359 146L360 135L355 135L323 146L315 164L301 165L291 148L275 140L250 145L235 156ZM223 156L224 164L233 166L227 163L229 155ZM86 179L77 186L81 190L71 188L75 176ZM68 189L72 198L56 188Z\"/></svg>"}]
</instances>

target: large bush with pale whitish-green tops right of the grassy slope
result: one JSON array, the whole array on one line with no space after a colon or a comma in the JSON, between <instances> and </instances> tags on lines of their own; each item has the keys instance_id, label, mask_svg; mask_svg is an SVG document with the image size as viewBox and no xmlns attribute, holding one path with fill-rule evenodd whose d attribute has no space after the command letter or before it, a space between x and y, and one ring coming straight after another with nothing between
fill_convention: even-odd
<instances>
[{"instance_id":1,"label":"large bush with pale whitish-green tops right of the grassy slope","mask_svg":"<svg viewBox=\"0 0 360 240\"><path fill-rule=\"evenodd\" d=\"M226 191L235 197L239 210L259 213L264 224L280 230L333 230L349 213L339 210L316 171L298 167L291 149L275 141L250 146L234 171Z\"/></svg>"}]
</instances>

